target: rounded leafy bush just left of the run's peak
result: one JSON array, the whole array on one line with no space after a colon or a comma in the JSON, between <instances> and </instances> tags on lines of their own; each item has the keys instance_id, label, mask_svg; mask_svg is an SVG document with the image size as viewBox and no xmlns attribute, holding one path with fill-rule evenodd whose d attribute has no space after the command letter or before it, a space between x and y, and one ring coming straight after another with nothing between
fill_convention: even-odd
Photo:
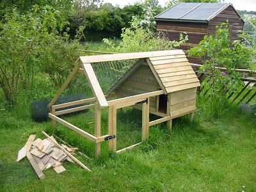
<instances>
[{"instance_id":1,"label":"rounded leafy bush just left of the run's peak","mask_svg":"<svg viewBox=\"0 0 256 192\"><path fill-rule=\"evenodd\" d=\"M63 36L50 34L45 36L40 46L40 70L49 75L55 86L60 87L74 68L79 56L80 44Z\"/></svg>"}]
</instances>

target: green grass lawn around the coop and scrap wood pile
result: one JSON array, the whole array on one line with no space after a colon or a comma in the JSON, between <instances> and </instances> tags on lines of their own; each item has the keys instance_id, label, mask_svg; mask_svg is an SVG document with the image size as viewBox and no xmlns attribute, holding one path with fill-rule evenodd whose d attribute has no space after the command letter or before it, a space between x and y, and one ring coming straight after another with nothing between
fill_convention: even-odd
<instances>
[{"instance_id":1,"label":"green grass lawn around the coop and scrap wood pile","mask_svg":"<svg viewBox=\"0 0 256 192\"><path fill-rule=\"evenodd\" d=\"M65 119L92 131L91 119L84 118L92 112ZM140 113L129 108L118 112L118 148L140 140ZM47 170L45 179L39 180L28 159L16 162L17 152L29 134L44 138L40 132L51 132L51 123L12 115L1 112L0 117L1 191L256 191L253 117L237 113L206 122L196 115L193 124L186 117L179 118L174 120L172 132L166 131L164 124L152 127L147 142L124 154L103 152L92 160L77 156L90 173L68 163L66 172L58 175ZM102 118L104 134L107 115L103 113ZM92 143L60 125L58 135L85 154L93 154Z\"/></svg>"}]
</instances>

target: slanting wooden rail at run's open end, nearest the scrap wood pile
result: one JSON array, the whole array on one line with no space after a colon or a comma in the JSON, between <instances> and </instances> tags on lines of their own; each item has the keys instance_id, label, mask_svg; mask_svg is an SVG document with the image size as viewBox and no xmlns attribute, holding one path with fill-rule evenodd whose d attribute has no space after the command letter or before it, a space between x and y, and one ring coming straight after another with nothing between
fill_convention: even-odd
<instances>
[{"instance_id":1,"label":"slanting wooden rail at run's open end, nearest the scrap wood pile","mask_svg":"<svg viewBox=\"0 0 256 192\"><path fill-rule=\"evenodd\" d=\"M79 129L75 125L72 125L72 124L66 122L65 120L62 120L58 116L52 115L51 113L48 113L48 116L49 116L49 118L52 118L52 119L56 120L56 122L59 122L60 124L65 125L69 129L72 129L73 131L81 134L81 136L84 136L85 138L88 138L88 140L96 142L97 138L95 136L93 136L92 134L90 134L88 132L85 132L82 129Z\"/></svg>"}]
</instances>

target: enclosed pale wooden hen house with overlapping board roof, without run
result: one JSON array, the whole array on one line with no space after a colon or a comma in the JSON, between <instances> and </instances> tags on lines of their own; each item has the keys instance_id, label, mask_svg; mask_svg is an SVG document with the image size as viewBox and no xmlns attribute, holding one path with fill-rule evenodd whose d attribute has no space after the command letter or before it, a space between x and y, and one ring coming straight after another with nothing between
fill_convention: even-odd
<instances>
[{"instance_id":1,"label":"enclosed pale wooden hen house with overlapping board roof, without run","mask_svg":"<svg viewBox=\"0 0 256 192\"><path fill-rule=\"evenodd\" d=\"M200 86L184 51L141 58L108 91L119 98L163 90L150 97L149 112L175 118L196 109L196 88ZM134 108L141 108L134 106Z\"/></svg>"}]
</instances>

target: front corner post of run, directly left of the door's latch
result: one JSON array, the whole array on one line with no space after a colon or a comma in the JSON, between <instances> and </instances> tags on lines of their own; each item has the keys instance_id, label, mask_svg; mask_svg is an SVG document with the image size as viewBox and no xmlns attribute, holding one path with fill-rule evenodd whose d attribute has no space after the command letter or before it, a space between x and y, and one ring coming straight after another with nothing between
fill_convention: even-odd
<instances>
[{"instance_id":1,"label":"front corner post of run, directly left of the door's latch","mask_svg":"<svg viewBox=\"0 0 256 192\"><path fill-rule=\"evenodd\" d=\"M99 108L99 104L95 104L95 126L94 126L94 134L95 137L100 137L100 122L101 122L101 110ZM100 156L100 142L95 143L95 157Z\"/></svg>"}]
</instances>

